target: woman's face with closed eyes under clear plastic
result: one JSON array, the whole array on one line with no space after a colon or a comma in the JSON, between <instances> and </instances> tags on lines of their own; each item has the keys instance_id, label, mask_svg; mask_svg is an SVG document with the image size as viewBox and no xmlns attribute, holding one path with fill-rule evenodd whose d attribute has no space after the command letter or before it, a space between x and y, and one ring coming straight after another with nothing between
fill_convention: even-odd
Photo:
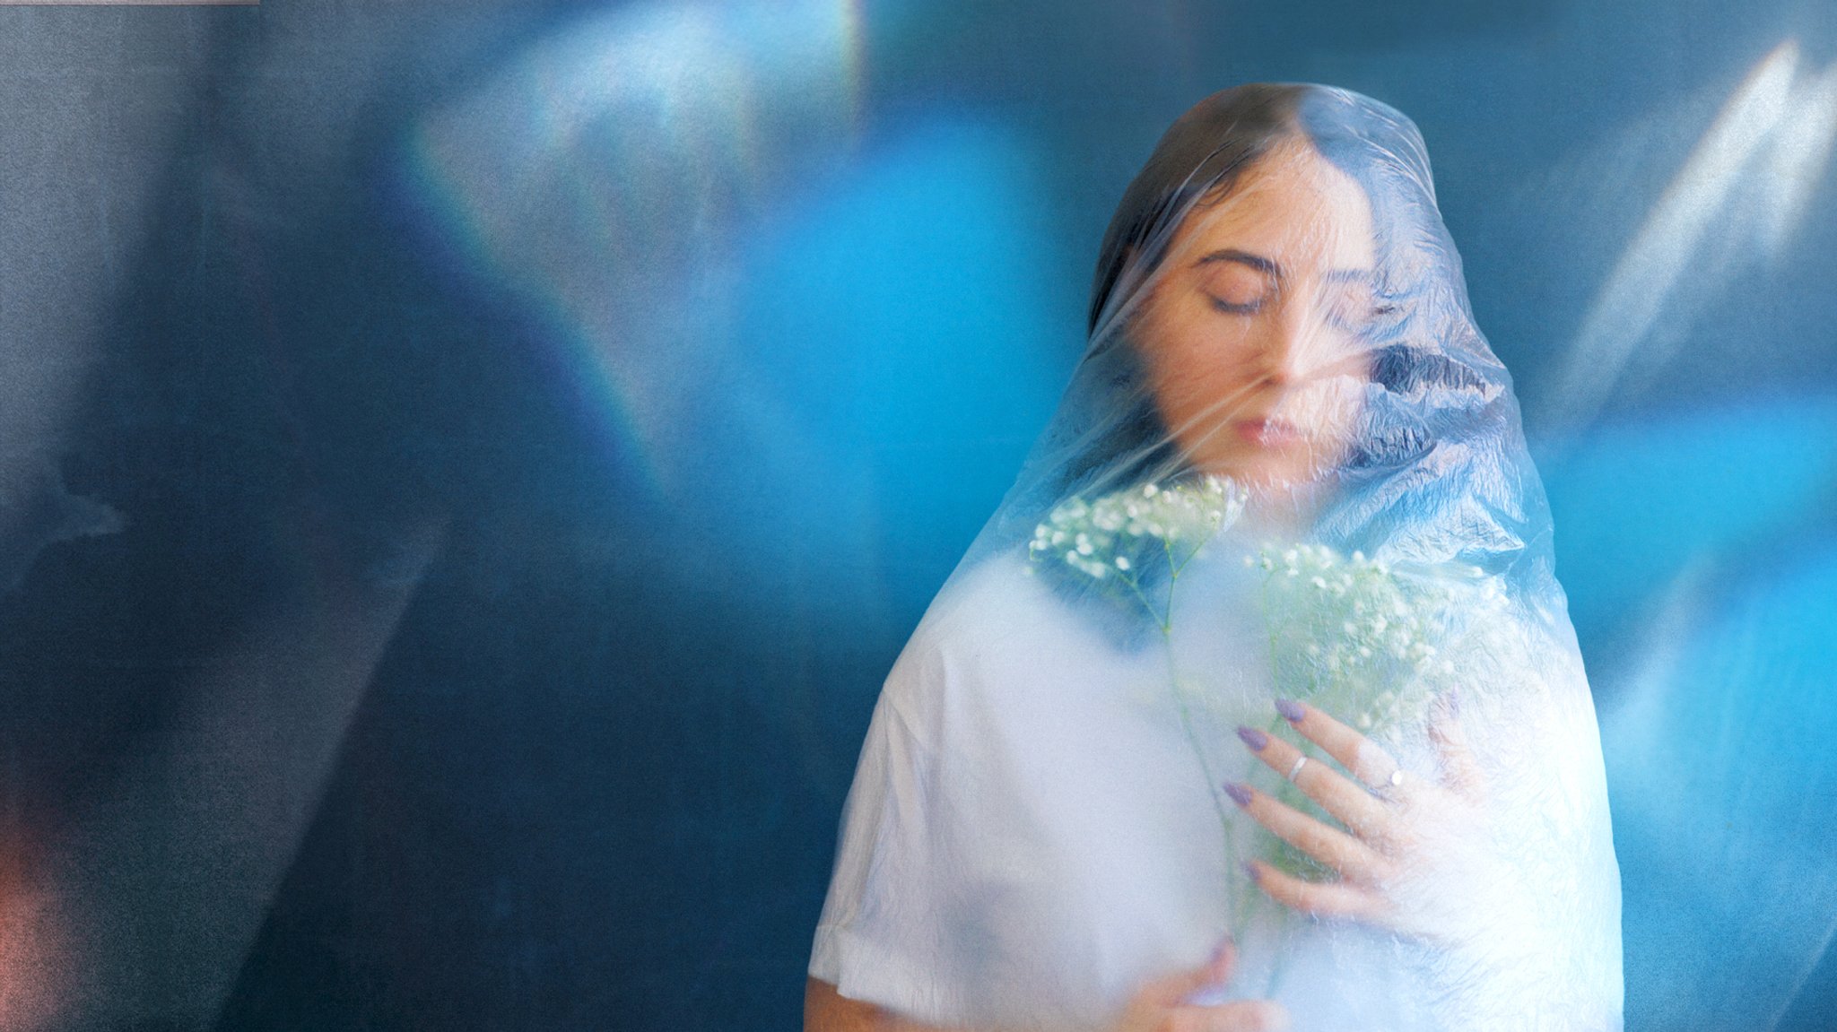
<instances>
[{"instance_id":1,"label":"woman's face with closed eyes under clear plastic","mask_svg":"<svg viewBox=\"0 0 1837 1032\"><path fill-rule=\"evenodd\" d=\"M1302 140L1187 217L1133 342L1190 465L1269 487L1341 465L1370 380L1372 261L1365 191Z\"/></svg>"}]
</instances>

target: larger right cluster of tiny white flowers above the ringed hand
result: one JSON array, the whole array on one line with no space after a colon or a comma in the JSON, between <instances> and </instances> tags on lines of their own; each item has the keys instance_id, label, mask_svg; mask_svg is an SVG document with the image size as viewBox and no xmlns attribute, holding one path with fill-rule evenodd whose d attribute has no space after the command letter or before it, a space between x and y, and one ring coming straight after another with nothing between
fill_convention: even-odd
<instances>
[{"instance_id":1,"label":"larger right cluster of tiny white flowers above the ringed hand","mask_svg":"<svg viewBox=\"0 0 1837 1032\"><path fill-rule=\"evenodd\" d=\"M1427 716L1451 674L1453 639L1505 608L1505 586L1477 566L1396 571L1326 545L1264 547L1277 689L1343 714L1359 731Z\"/></svg>"}]
</instances>

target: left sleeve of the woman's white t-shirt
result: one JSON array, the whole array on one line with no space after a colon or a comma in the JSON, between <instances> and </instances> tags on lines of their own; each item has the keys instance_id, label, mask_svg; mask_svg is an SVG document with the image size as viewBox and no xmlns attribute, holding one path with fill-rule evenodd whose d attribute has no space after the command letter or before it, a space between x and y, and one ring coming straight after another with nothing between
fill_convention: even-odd
<instances>
[{"instance_id":1,"label":"left sleeve of the woman's white t-shirt","mask_svg":"<svg viewBox=\"0 0 1837 1032\"><path fill-rule=\"evenodd\" d=\"M926 735L942 676L935 643L915 635L874 703L808 968L845 997L939 1023L964 1008L961 865Z\"/></svg>"}]
</instances>

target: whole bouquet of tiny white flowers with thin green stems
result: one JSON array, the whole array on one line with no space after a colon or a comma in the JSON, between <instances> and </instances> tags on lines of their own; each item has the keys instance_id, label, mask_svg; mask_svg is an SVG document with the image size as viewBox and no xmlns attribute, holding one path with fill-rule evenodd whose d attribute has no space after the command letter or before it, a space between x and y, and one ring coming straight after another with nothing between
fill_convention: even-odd
<instances>
[{"instance_id":1,"label":"whole bouquet of tiny white flowers with thin green stems","mask_svg":"<svg viewBox=\"0 0 1837 1032\"><path fill-rule=\"evenodd\" d=\"M1029 544L1029 573L1056 566L1080 588L1146 613L1165 639L1187 566L1244 512L1245 490L1205 476L1146 483L1097 499L1071 498L1051 510ZM1293 698L1381 736L1427 722L1433 700L1453 687L1455 652L1486 617L1505 608L1497 577L1468 564L1387 564L1308 542L1266 544L1244 556L1264 571L1260 608L1269 670L1279 698ZM1214 795L1231 870L1238 869L1236 810L1220 797L1196 735L1185 683L1168 656L1168 687L1187 740ZM1279 733L1280 718L1269 725ZM1302 744L1306 747L1306 744ZM1293 784L1275 779L1273 795L1319 810ZM1264 859L1297 876L1324 874L1313 858L1275 836L1260 836ZM1236 892L1231 892L1236 898ZM1244 920L1242 900L1233 911Z\"/></svg>"}]
</instances>

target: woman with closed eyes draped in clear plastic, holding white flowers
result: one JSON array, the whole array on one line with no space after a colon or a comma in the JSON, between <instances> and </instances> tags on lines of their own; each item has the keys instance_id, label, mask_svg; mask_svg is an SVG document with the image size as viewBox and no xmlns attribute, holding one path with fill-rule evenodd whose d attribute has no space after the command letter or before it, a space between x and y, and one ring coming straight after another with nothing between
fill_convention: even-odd
<instances>
[{"instance_id":1,"label":"woman with closed eyes draped in clear plastic, holding white flowers","mask_svg":"<svg viewBox=\"0 0 1837 1032\"><path fill-rule=\"evenodd\" d=\"M1595 711L1416 129L1207 97L1089 321L880 694L806 1026L1620 1028Z\"/></svg>"}]
</instances>

